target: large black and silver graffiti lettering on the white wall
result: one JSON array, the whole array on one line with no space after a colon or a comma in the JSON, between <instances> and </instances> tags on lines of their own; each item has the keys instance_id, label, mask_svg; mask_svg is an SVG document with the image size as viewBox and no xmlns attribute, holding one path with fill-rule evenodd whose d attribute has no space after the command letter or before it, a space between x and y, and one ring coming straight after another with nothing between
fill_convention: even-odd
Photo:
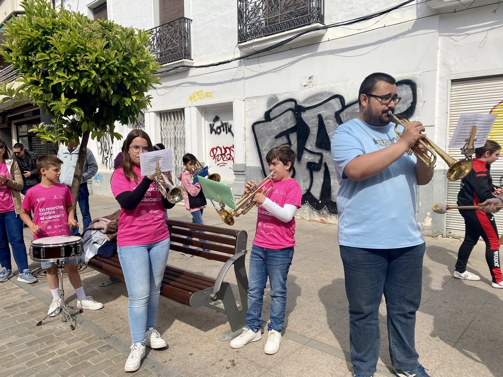
<instances>
[{"instance_id":1,"label":"large black and silver graffiti lettering on the white wall","mask_svg":"<svg viewBox=\"0 0 503 377\"><path fill-rule=\"evenodd\" d=\"M402 101L396 113L410 119L417 104L417 88L412 80L397 82ZM342 95L320 92L299 104L295 99L268 101L264 120L251 126L264 176L268 170L267 152L274 146L289 144L296 152L293 176L303 189L302 204L316 211L337 213L338 182L330 160L330 139L336 128L355 118L358 101L346 103ZM309 105L308 105L309 104Z\"/></svg>"}]
</instances>

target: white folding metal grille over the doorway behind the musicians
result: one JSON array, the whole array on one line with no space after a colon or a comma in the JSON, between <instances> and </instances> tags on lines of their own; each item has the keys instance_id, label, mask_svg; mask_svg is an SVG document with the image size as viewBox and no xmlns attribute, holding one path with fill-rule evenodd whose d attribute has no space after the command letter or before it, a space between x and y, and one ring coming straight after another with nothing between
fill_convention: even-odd
<instances>
[{"instance_id":1,"label":"white folding metal grille over the doorway behind the musicians","mask_svg":"<svg viewBox=\"0 0 503 377\"><path fill-rule=\"evenodd\" d=\"M176 178L184 170L182 157L186 153L185 112L184 110L162 112L159 118L160 141L173 151L173 178Z\"/></svg>"}]
</instances>

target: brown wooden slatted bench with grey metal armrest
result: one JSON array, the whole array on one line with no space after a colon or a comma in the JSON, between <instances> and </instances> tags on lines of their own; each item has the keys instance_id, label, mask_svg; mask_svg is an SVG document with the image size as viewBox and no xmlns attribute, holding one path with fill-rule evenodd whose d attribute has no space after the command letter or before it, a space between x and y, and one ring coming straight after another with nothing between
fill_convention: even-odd
<instances>
[{"instance_id":1,"label":"brown wooden slatted bench with grey metal armrest","mask_svg":"<svg viewBox=\"0 0 503 377\"><path fill-rule=\"evenodd\" d=\"M167 265L161 284L161 296L191 308L206 306L225 313L231 330L219 336L220 341L228 341L239 335L242 328L246 326L246 311L248 309L248 277L244 265L247 233L244 230L232 230L177 220L167 220L166 222L171 234L170 250L219 261L223 263L223 266L216 278L212 278ZM191 229L203 230L205 233ZM188 240L187 236L194 238ZM199 241L199 238L205 239L206 242ZM184 244L189 247L184 247ZM201 247L210 249L211 253L202 251ZM95 256L91 258L88 265L111 278L124 280L117 254L110 259ZM234 267L241 309L238 308L231 285L224 281L225 275L231 267Z\"/></svg>"}]
</instances>

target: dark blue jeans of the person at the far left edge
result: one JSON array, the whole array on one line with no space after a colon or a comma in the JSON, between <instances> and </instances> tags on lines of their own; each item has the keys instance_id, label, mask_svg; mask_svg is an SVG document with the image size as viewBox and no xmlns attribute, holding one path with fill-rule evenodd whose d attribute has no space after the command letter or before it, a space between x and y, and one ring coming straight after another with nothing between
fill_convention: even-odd
<instances>
[{"instance_id":1,"label":"dark blue jeans of the person at the far left edge","mask_svg":"<svg viewBox=\"0 0 503 377\"><path fill-rule=\"evenodd\" d=\"M19 272L23 272L28 268L28 257L23 238L23 220L16 215L16 211L0 213L0 265L12 270L9 244Z\"/></svg>"}]
</instances>

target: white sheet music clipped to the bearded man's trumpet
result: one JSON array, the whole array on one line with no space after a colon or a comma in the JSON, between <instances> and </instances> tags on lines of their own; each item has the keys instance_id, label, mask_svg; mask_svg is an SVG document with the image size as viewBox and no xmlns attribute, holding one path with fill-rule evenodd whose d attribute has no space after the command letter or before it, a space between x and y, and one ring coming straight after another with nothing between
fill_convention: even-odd
<instances>
[{"instance_id":1,"label":"white sheet music clipped to the bearded man's trumpet","mask_svg":"<svg viewBox=\"0 0 503 377\"><path fill-rule=\"evenodd\" d=\"M475 134L477 141L473 146L475 148L483 147L496 117L497 114L461 114L449 143L449 148L463 148L466 139L470 137L472 126L477 126L477 133Z\"/></svg>"}]
</instances>

